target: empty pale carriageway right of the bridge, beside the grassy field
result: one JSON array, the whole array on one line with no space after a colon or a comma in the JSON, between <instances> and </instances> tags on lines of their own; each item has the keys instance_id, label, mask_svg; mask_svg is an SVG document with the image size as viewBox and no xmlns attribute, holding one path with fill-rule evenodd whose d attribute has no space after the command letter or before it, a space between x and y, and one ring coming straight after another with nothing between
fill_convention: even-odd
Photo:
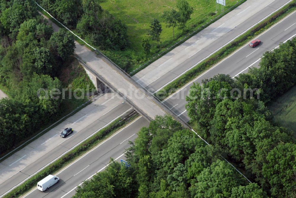
<instances>
[{"instance_id":1,"label":"empty pale carriageway right of the bridge, beside the grassy field","mask_svg":"<svg viewBox=\"0 0 296 198\"><path fill-rule=\"evenodd\" d=\"M290 0L248 0L133 76L152 92L178 78Z\"/></svg>"}]
</instances>

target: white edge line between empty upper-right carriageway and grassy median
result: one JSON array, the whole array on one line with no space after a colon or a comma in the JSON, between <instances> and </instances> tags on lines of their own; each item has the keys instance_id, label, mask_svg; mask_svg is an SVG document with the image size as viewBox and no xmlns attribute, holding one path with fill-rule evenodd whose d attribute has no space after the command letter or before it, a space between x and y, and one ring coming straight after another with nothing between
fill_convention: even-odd
<instances>
[{"instance_id":1,"label":"white edge line between empty upper-right carriageway and grassy median","mask_svg":"<svg viewBox=\"0 0 296 198\"><path fill-rule=\"evenodd\" d=\"M274 12L278 11L279 9L281 9L282 7L284 7L285 5L289 4L291 1L288 1L287 3L285 3L284 5L282 5L281 7L279 7L278 9L276 9ZM241 36L242 34L246 33L248 30L250 30L251 28L253 28L255 25L259 24L261 21L265 20L266 18L268 18L270 15L274 14L274 12L271 12L269 15L267 15L266 17L264 17L263 19L261 19L260 21L258 21L258 23L255 23L254 25L252 25L250 28L248 28L247 30L245 30L244 32L242 32L241 34L237 35L236 37L234 37L232 40L230 40L228 43L226 43L225 45L223 45L222 47L218 48L216 51L214 51L213 53L211 53L210 55L208 55L207 57L205 57L204 59L200 60L198 63L194 64L192 67L186 69L183 73L181 73L180 75L178 75L177 77L175 77L173 80L171 80L170 82L167 82L165 85L163 85L162 87L160 87L158 90L156 90L153 93L158 92L159 90L161 90L163 87L167 86L168 84L170 84L171 82L173 82L174 80L176 80L178 77L182 76L183 74L185 74L187 71L191 70L192 68L194 68L196 65L198 65L199 63L201 63L202 61L204 61L205 59L209 58L211 55L215 54L217 51L219 51L221 48L225 47L227 44L229 44L230 42L234 41L235 39L237 39L239 36ZM288 15L289 16L289 15ZM287 16L287 17L288 17ZM233 28L232 28L233 29Z\"/></svg>"}]
</instances>

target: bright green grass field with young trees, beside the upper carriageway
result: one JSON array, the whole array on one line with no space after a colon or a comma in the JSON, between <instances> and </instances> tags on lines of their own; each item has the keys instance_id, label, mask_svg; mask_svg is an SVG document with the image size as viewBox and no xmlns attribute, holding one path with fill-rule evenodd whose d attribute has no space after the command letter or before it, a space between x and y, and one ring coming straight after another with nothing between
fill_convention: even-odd
<instances>
[{"instance_id":1,"label":"bright green grass field with young trees, beside the upper carriageway","mask_svg":"<svg viewBox=\"0 0 296 198\"><path fill-rule=\"evenodd\" d=\"M110 51L100 49L107 57L109 57L118 66L125 69L128 73L133 72L148 60L154 59L155 54L165 51L167 48L179 42L188 33L206 25L211 19L217 17L221 11L216 12L215 0L187 0L190 6L194 8L191 20L186 23L185 33L182 33L177 27L175 28L175 37L173 37L173 29L167 28L164 23L164 11L172 8L177 9L177 0L99 0L103 9L110 12L115 18L120 19L127 26L127 34L129 47L123 51ZM245 0L244 0L245 1ZM227 0L224 10L232 7L237 3L236 0ZM157 47L156 41L151 41L151 53L147 57L141 47L141 40L148 36L151 21L156 18L162 25L162 33L160 35L160 46ZM149 37L149 36L148 36ZM189 37L188 37L189 38ZM159 58L157 56L156 58ZM149 64L148 64L149 65ZM143 69L142 67L141 69ZM139 72L140 70L136 70Z\"/></svg>"}]
</instances>

